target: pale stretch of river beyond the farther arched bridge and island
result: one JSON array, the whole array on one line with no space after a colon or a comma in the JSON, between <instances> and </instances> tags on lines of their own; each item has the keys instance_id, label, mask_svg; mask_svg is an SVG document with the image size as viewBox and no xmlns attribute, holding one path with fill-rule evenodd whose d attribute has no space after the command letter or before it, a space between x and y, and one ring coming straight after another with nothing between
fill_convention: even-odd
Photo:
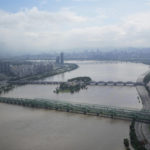
<instances>
[{"instance_id":1,"label":"pale stretch of river beyond the farther arched bridge and island","mask_svg":"<svg viewBox=\"0 0 150 150\"><path fill-rule=\"evenodd\" d=\"M76 63L79 68L44 80L66 81L77 76L89 76L94 81L136 81L137 77L148 69L145 64L117 61L68 61L68 63Z\"/></svg>"}]
</instances>

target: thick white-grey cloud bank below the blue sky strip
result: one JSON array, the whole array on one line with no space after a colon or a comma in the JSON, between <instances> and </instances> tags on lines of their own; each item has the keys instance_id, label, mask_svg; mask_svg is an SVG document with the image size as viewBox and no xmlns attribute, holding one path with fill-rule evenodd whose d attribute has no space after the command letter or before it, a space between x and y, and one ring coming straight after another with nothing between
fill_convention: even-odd
<instances>
[{"instance_id":1,"label":"thick white-grey cloud bank below the blue sky strip","mask_svg":"<svg viewBox=\"0 0 150 150\"><path fill-rule=\"evenodd\" d=\"M46 1L44 1L46 3ZM111 16L79 15L69 9L0 11L0 47L11 51L150 47L150 11L105 24Z\"/></svg>"}]
</instances>

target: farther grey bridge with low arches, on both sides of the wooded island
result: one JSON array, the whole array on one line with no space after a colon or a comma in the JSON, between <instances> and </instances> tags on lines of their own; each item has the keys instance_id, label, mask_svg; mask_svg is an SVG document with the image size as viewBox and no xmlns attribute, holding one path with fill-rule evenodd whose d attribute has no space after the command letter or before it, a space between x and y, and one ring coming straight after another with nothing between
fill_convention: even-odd
<instances>
[{"instance_id":1,"label":"farther grey bridge with low arches, on both sides of the wooded island","mask_svg":"<svg viewBox=\"0 0 150 150\"><path fill-rule=\"evenodd\" d=\"M65 83L63 81L9 81L11 84L61 84ZM141 82L132 81L90 81L88 85L98 85L98 86L144 86Z\"/></svg>"}]
</instances>

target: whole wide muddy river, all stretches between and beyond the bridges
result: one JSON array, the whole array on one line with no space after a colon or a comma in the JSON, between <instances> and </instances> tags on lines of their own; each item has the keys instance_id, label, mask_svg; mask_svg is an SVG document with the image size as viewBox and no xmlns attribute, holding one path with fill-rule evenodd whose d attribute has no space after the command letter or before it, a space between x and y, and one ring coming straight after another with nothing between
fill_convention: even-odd
<instances>
[{"instance_id":1,"label":"whole wide muddy river, all stretches between and beyond the bridges","mask_svg":"<svg viewBox=\"0 0 150 150\"><path fill-rule=\"evenodd\" d=\"M74 63L79 65L78 69L44 80L66 81L76 76L90 76L95 81L136 81L140 74L148 70L147 65L129 62ZM142 106L134 87L89 86L87 90L75 94L55 94L55 88L56 85L25 85L2 96L57 99L130 108ZM129 137L129 125L129 121L123 120L0 104L0 149L123 150L123 138Z\"/></svg>"}]
</instances>

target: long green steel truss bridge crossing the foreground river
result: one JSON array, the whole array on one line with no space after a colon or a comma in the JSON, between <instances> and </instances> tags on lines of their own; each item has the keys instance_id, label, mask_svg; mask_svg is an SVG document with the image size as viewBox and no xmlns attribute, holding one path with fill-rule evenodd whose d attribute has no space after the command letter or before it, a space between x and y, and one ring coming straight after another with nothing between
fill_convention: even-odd
<instances>
[{"instance_id":1,"label":"long green steel truss bridge crossing the foreground river","mask_svg":"<svg viewBox=\"0 0 150 150\"><path fill-rule=\"evenodd\" d=\"M23 99L7 97L0 97L0 103L150 123L150 111L148 110L119 108L96 104L69 103L46 99Z\"/></svg>"}]
</instances>

